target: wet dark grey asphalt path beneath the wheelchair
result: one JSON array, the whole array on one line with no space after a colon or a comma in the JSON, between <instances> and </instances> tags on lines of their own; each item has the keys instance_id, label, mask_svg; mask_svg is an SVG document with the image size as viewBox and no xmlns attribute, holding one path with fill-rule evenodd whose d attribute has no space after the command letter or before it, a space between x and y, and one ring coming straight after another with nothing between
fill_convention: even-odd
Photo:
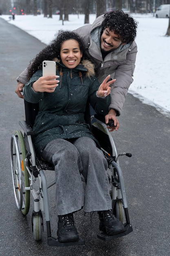
<instances>
[{"instance_id":1,"label":"wet dark grey asphalt path beneath the wheelchair","mask_svg":"<svg viewBox=\"0 0 170 256\"><path fill-rule=\"evenodd\" d=\"M14 93L16 76L44 47L34 37L0 18L0 255L2 256L169 256L170 255L170 119L128 94L119 131L113 132L121 157L133 232L104 242L97 238L98 218L79 212L75 221L85 245L49 247L31 230L33 204L26 217L13 195L10 139L24 119L23 100ZM51 174L53 175L53 173ZM51 229L56 237L55 189L49 191ZM32 199L32 197L31 197ZM45 222L45 220L44 220Z\"/></svg>"}]
</instances>

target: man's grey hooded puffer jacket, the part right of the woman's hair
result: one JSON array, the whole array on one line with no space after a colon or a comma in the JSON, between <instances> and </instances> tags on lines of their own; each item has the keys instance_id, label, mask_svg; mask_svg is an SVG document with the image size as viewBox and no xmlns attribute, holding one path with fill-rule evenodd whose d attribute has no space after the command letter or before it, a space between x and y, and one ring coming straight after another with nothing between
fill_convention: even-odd
<instances>
[{"instance_id":1,"label":"man's grey hooded puffer jacket, the part right of the woman's hair","mask_svg":"<svg viewBox=\"0 0 170 256\"><path fill-rule=\"evenodd\" d=\"M117 115L121 114L128 88L132 83L133 72L137 54L135 41L130 44L121 45L119 48L108 53L102 58L100 51L100 36L102 31L102 21L104 15L99 16L92 25L84 25L75 30L84 40L87 48L86 55L95 63L96 76L101 83L110 74L112 79L116 79L112 86L111 104L109 109L117 110Z\"/></svg>"}]
</instances>

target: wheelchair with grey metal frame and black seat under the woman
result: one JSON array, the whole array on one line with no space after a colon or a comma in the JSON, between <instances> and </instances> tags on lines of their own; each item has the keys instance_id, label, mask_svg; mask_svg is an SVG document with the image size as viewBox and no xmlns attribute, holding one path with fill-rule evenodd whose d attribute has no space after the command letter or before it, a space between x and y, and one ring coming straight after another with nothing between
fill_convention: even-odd
<instances>
[{"instance_id":1,"label":"wheelchair with grey metal frame and black seat under the woman","mask_svg":"<svg viewBox=\"0 0 170 256\"><path fill-rule=\"evenodd\" d=\"M19 211L24 216L29 212L30 194L34 199L34 209L32 212L32 231L36 241L42 239L42 231L44 231L44 222L42 212L45 214L47 243L49 246L69 246L69 245L84 245L84 240L79 239L77 242L60 243L57 238L51 236L51 224L49 213L49 198L48 189L55 185L55 180L47 184L45 171L54 170L54 166L42 162L35 155L32 136L33 124L38 113L38 103L29 103L24 101L25 105L25 121L20 121L21 130L17 130L11 136L11 173L13 181L13 191L15 203ZM108 162L108 179L110 183L110 197L112 198L113 213L121 222L124 223L125 231L114 236L100 232L97 234L99 239L108 241L121 236L126 236L132 232L132 225L128 214L128 206L124 187L123 173L119 166L119 156L126 155L131 157L130 153L117 154L113 137L111 136L104 118L99 115L90 116L88 107L87 119L91 122L93 135L99 141L104 156ZM86 120L87 120L86 119ZM112 124L110 124L112 126ZM39 182L39 189L36 190L34 184ZM82 182L84 178L82 177Z\"/></svg>"}]
</instances>

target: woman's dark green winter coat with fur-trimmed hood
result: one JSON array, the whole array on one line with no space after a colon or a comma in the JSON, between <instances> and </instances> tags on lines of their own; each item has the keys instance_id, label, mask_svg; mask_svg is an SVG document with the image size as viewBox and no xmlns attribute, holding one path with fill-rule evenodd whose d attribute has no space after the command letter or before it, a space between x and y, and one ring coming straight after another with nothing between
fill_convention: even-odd
<instances>
[{"instance_id":1,"label":"woman's dark green winter coat with fur-trimmed hood","mask_svg":"<svg viewBox=\"0 0 170 256\"><path fill-rule=\"evenodd\" d=\"M84 120L86 103L89 102L102 115L108 114L110 104L110 95L105 99L96 95L100 84L94 76L94 67L90 61L83 61L73 70L62 63L56 64L60 83L54 92L34 92L32 89L32 84L42 76L42 70L38 70L24 86L24 99L39 103L33 126L33 142L39 157L46 144L54 139L91 137L95 140L90 126Z\"/></svg>"}]
</instances>

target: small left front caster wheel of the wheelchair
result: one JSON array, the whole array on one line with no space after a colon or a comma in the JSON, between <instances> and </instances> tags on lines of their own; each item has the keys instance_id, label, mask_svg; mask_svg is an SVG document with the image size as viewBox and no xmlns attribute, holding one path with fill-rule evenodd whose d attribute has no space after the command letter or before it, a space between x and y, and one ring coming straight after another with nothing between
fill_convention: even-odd
<instances>
[{"instance_id":1,"label":"small left front caster wheel of the wheelchair","mask_svg":"<svg viewBox=\"0 0 170 256\"><path fill-rule=\"evenodd\" d=\"M42 216L41 214L34 214L33 220L33 237L36 241L40 241L42 238Z\"/></svg>"}]
</instances>

